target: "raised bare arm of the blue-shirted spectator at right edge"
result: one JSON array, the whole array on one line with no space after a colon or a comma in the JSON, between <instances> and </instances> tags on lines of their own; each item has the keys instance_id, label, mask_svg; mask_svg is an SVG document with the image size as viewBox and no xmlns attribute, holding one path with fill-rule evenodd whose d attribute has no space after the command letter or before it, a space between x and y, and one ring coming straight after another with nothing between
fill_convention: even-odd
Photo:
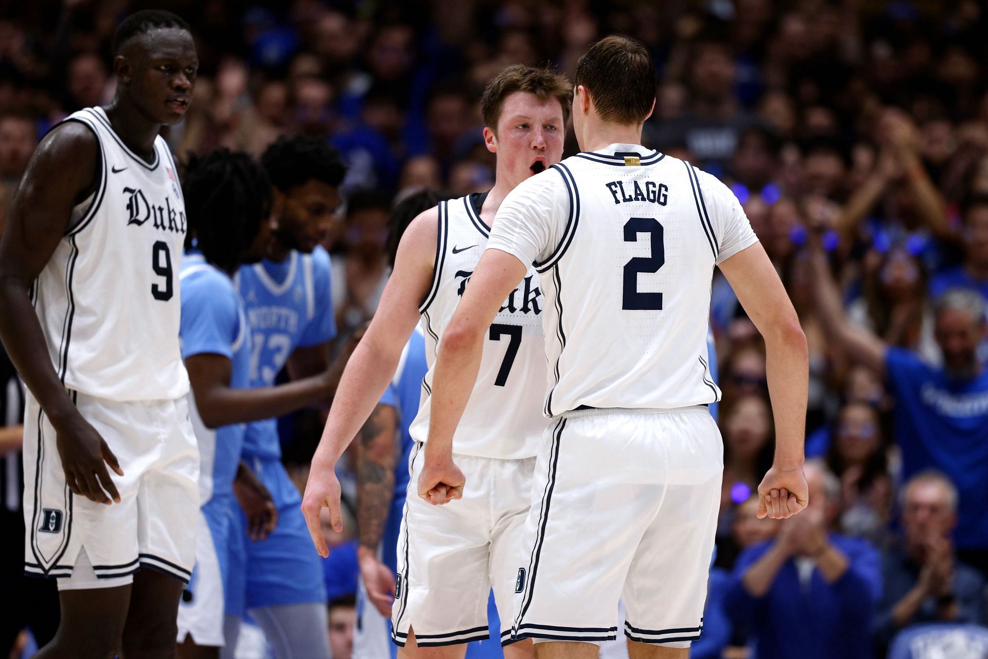
<instances>
[{"instance_id":1,"label":"raised bare arm of the blue-shirted spectator at right edge","mask_svg":"<svg viewBox=\"0 0 988 659\"><path fill-rule=\"evenodd\" d=\"M848 320L841 303L841 291L830 272L827 254L821 245L820 232L809 231L809 280L816 298L817 317L831 340L839 344L848 356L881 375L885 371L888 346L866 330Z\"/></svg>"}]
</instances>

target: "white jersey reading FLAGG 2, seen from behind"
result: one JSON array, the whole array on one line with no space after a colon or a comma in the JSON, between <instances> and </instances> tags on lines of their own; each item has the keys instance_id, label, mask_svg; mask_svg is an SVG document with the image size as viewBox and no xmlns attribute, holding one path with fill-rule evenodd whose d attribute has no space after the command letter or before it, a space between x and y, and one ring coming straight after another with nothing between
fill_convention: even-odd
<instances>
[{"instance_id":1,"label":"white jersey reading FLAGG 2, seen from behind","mask_svg":"<svg viewBox=\"0 0 988 659\"><path fill-rule=\"evenodd\" d=\"M640 145L579 153L512 191L487 249L541 276L545 414L719 400L706 345L713 267L757 240L726 186Z\"/></svg>"}]
</instances>

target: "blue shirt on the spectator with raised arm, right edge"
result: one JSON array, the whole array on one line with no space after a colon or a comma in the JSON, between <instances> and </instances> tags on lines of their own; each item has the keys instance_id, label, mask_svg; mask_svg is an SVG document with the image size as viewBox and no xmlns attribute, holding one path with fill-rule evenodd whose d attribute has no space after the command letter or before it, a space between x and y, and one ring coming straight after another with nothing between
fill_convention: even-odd
<instances>
[{"instance_id":1,"label":"blue shirt on the spectator with raised arm, right edge","mask_svg":"<svg viewBox=\"0 0 988 659\"><path fill-rule=\"evenodd\" d=\"M901 348L889 348L885 378L895 397L893 437L902 478L936 468L959 494L958 549L988 549L988 370L953 379Z\"/></svg>"}]
</instances>

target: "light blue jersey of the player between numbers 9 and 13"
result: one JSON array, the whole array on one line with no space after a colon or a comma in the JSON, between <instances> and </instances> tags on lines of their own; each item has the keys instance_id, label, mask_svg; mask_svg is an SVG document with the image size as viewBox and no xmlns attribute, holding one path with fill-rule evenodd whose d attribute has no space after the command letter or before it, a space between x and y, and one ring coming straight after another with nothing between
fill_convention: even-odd
<instances>
[{"instance_id":1,"label":"light blue jersey of the player between numbers 9 and 13","mask_svg":"<svg viewBox=\"0 0 988 659\"><path fill-rule=\"evenodd\" d=\"M186 254L182 262L182 359L194 355L221 355L230 360L230 386L250 386L251 336L243 302L229 276L208 263L201 252ZM200 495L203 504L213 495L233 493L246 424L206 428L192 391L191 419L202 459Z\"/></svg>"}]
</instances>

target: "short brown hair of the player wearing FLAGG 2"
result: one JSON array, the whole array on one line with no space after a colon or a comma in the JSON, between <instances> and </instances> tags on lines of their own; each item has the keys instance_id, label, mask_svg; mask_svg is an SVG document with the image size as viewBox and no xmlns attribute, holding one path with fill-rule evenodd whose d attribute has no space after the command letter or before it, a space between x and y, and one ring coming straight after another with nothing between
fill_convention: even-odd
<instances>
[{"instance_id":1,"label":"short brown hair of the player wearing FLAGG 2","mask_svg":"<svg viewBox=\"0 0 988 659\"><path fill-rule=\"evenodd\" d=\"M641 124L655 103L655 60L638 41L605 37L576 63L575 84L590 92L604 121Z\"/></svg>"}]
</instances>

